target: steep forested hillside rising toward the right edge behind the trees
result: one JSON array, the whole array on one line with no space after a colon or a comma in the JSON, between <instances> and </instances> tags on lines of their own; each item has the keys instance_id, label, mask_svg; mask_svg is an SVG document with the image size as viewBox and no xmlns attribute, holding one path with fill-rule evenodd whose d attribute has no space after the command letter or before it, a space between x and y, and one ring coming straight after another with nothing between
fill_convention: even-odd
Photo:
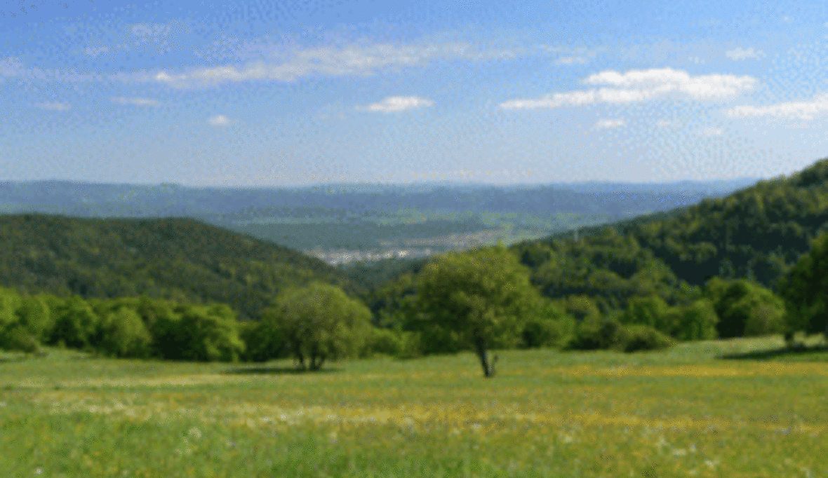
<instances>
[{"instance_id":1,"label":"steep forested hillside rising toward the right edge behind the trees","mask_svg":"<svg viewBox=\"0 0 828 478\"><path fill-rule=\"evenodd\" d=\"M633 297L657 295L670 305L700 297L711 278L745 278L778 292L777 280L828 230L828 160L788 178L760 181L724 198L633 217L509 246L551 299L588 296L602 313ZM368 305L393 314L415 294L421 261L383 270L352 266L354 275L397 276L375 289ZM410 273L410 274L407 274Z\"/></svg>"}]
</instances>

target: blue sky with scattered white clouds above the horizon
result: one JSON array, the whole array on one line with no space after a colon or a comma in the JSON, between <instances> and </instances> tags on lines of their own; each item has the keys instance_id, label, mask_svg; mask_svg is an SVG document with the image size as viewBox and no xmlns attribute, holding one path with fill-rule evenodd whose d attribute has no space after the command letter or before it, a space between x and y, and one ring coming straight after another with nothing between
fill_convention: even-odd
<instances>
[{"instance_id":1,"label":"blue sky with scattered white clouds above the horizon","mask_svg":"<svg viewBox=\"0 0 828 478\"><path fill-rule=\"evenodd\" d=\"M771 179L828 3L0 0L0 181Z\"/></svg>"}]
</instances>

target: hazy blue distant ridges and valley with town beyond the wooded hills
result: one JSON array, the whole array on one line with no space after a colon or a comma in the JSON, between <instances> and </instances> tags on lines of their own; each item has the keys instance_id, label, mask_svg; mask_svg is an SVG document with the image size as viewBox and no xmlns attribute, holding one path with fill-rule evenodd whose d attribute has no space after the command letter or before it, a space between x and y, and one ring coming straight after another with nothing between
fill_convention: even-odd
<instances>
[{"instance_id":1,"label":"hazy blue distant ridges and valley with town beyond the wooded hills","mask_svg":"<svg viewBox=\"0 0 828 478\"><path fill-rule=\"evenodd\" d=\"M758 179L662 184L317 184L192 188L63 180L0 183L0 214L190 217L330 264L427 256L657 213L719 198Z\"/></svg>"}]
</instances>

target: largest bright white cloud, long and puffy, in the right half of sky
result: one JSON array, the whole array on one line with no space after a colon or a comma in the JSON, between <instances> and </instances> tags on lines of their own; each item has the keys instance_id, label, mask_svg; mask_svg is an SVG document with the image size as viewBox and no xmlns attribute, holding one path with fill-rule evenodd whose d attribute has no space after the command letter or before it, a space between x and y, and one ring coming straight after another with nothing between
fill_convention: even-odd
<instances>
[{"instance_id":1,"label":"largest bright white cloud, long and puffy, in the right half of sky","mask_svg":"<svg viewBox=\"0 0 828 478\"><path fill-rule=\"evenodd\" d=\"M732 74L691 77L685 71L664 68L630 70L624 74L606 70L590 75L584 83L604 84L609 88L555 93L537 99L510 100L501 103L500 108L557 108L593 103L635 103L671 94L696 100L722 99L752 89L757 81L749 76L738 77Z\"/></svg>"}]
</instances>

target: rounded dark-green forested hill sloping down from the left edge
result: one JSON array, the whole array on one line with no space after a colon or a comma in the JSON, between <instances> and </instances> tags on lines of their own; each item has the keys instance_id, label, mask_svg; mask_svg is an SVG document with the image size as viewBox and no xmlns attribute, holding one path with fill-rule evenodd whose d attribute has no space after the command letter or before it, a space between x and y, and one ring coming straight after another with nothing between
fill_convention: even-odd
<instances>
[{"instance_id":1,"label":"rounded dark-green forested hill sloping down from the left edge","mask_svg":"<svg viewBox=\"0 0 828 478\"><path fill-rule=\"evenodd\" d=\"M190 218L0 216L0 285L26 294L229 304L239 319L282 289L322 280L357 296L341 271L271 242Z\"/></svg>"}]
</instances>

